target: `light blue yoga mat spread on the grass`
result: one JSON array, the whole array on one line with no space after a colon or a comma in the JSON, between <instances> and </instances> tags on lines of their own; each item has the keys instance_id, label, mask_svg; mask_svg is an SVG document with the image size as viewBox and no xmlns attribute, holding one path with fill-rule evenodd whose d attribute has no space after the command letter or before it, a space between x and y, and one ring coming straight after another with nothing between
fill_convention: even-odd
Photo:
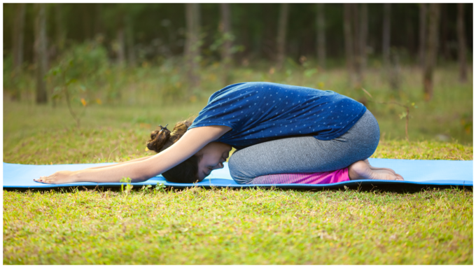
<instances>
[{"instance_id":1,"label":"light blue yoga mat spread on the grass","mask_svg":"<svg viewBox=\"0 0 476 268\"><path fill-rule=\"evenodd\" d=\"M255 184L240 185L235 183L230 176L228 163L225 162L223 169L216 169L204 179L204 181L193 183L169 183L163 176L150 178L141 183L132 183L132 185L156 185L164 183L167 186L175 188L184 188L188 186L210 186L230 187L230 188L248 188L254 186L276 188L309 188L320 189L329 187L342 187L343 185L461 185L472 186L472 161L454 161L454 160L395 160L370 158L370 164L374 167L388 167L401 174L405 181L379 181L379 180L360 180L345 181L342 183L331 184ZM55 171L70 170L76 171L88 167L99 167L113 163L103 164L53 164L53 165L31 165L31 164L8 164L3 163L3 188L57 188L71 186L120 186L123 183L65 183L65 184L44 184L36 183L34 178L48 176Z\"/></svg>"}]
</instances>

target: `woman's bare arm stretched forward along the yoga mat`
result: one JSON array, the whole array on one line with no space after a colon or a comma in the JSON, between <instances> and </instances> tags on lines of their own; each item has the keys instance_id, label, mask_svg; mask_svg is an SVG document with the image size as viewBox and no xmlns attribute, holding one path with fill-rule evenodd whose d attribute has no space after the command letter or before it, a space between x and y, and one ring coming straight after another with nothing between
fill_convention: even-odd
<instances>
[{"instance_id":1,"label":"woman's bare arm stretched forward along the yoga mat","mask_svg":"<svg viewBox=\"0 0 476 268\"><path fill-rule=\"evenodd\" d=\"M52 184L78 182L118 183L122 178L131 178L131 181L134 183L147 181L149 178L162 174L195 155L208 143L220 138L230 129L231 127L226 126L196 127L186 132L174 145L145 160L125 162L102 169L59 171L34 181Z\"/></svg>"}]
</instances>

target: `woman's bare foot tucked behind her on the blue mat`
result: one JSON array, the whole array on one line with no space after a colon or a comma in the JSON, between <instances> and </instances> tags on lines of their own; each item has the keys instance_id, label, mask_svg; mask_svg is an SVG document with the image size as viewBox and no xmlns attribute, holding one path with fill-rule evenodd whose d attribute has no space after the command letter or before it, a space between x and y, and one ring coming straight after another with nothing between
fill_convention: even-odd
<instances>
[{"instance_id":1,"label":"woman's bare foot tucked behind her on the blue mat","mask_svg":"<svg viewBox=\"0 0 476 268\"><path fill-rule=\"evenodd\" d=\"M349 178L353 180L403 181L403 177L386 169L370 169L370 164L358 161L349 166Z\"/></svg>"}]
</instances>

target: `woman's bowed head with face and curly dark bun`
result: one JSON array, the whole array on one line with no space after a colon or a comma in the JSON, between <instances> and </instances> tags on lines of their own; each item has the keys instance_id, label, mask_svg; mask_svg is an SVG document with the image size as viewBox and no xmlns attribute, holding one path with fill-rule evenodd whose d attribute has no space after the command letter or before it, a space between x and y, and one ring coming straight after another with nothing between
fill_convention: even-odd
<instances>
[{"instance_id":1,"label":"woman's bowed head with face and curly dark bun","mask_svg":"<svg viewBox=\"0 0 476 268\"><path fill-rule=\"evenodd\" d=\"M147 141L147 148L157 153L172 146L187 132L193 120L177 122L172 132L169 129L160 129L151 132L151 139ZM228 158L231 146L225 143L212 142L200 149L195 155L172 169L165 171L167 181L174 183L195 183L202 181L213 169L223 168L223 162Z\"/></svg>"}]
</instances>

